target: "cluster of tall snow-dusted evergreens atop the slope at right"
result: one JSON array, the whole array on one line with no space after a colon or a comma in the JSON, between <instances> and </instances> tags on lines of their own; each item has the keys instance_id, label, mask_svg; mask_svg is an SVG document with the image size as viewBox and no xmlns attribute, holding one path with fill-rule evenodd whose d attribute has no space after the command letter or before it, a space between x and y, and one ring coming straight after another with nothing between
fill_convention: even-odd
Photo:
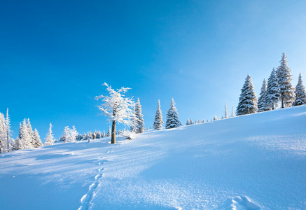
<instances>
[{"instance_id":1,"label":"cluster of tall snow-dusted evergreens atop the slope at right","mask_svg":"<svg viewBox=\"0 0 306 210\"><path fill-rule=\"evenodd\" d=\"M258 100L251 76L246 77L239 97L237 116L257 111L273 110L277 108L279 103L281 108L306 104L306 92L304 85L302 85L302 76L299 75L298 84L293 88L291 69L287 65L286 58L286 54L283 53L277 70L272 69L268 80L263 80Z\"/></svg>"}]
</instances>

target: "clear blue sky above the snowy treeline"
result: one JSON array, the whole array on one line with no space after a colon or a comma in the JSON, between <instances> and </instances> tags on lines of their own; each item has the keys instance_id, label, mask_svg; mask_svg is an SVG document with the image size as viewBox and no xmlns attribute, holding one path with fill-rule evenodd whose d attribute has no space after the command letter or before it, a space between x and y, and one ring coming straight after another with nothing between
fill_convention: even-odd
<instances>
[{"instance_id":1,"label":"clear blue sky above the snowy treeline","mask_svg":"<svg viewBox=\"0 0 306 210\"><path fill-rule=\"evenodd\" d=\"M187 118L237 106L249 73L263 78L288 55L293 85L306 83L306 1L5 1L0 8L0 112L13 137L30 118L46 137L64 126L107 130L97 116L102 83L131 87L146 126L158 99ZM305 84L306 85L306 84Z\"/></svg>"}]
</instances>

